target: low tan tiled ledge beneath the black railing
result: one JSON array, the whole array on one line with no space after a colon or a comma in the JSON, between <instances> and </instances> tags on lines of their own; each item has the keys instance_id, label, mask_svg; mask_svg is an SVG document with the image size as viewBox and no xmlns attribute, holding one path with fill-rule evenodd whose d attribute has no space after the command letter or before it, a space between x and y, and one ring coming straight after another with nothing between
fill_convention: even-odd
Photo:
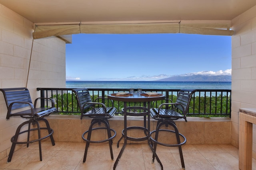
<instances>
[{"instance_id":1,"label":"low tan tiled ledge beneath the black railing","mask_svg":"<svg viewBox=\"0 0 256 170\"><path fill-rule=\"evenodd\" d=\"M50 126L54 129L55 141L83 142L82 133L90 125L91 118L84 117L82 120L79 115L50 115L47 117ZM176 125L186 138L188 144L230 144L231 143L231 119L228 117L187 117L188 122L180 119L175 121ZM114 143L121 137L124 128L124 118L114 116L109 119L110 127L115 129L116 137ZM128 117L128 126L143 126L142 117ZM103 126L103 125L102 125ZM150 129L155 129L156 120L151 119ZM128 131L128 136L132 134L143 135L139 130ZM92 140L102 140L106 136L104 130L95 131ZM164 134L163 134L164 135ZM168 138L168 137L170 138ZM133 136L134 137L134 136ZM137 136L135 136L137 137ZM165 141L175 139L173 134L164 135ZM145 141L146 143L146 141Z\"/></svg>"}]
</instances>

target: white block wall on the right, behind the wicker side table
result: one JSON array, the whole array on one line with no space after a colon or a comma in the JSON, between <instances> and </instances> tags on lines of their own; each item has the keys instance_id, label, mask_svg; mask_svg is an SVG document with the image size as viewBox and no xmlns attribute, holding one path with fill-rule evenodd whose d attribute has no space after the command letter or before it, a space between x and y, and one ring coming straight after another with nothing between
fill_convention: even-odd
<instances>
[{"instance_id":1,"label":"white block wall on the right, behind the wicker side table","mask_svg":"<svg viewBox=\"0 0 256 170\"><path fill-rule=\"evenodd\" d=\"M238 147L239 108L256 107L256 6L232 20L232 145ZM256 126L253 126L256 158Z\"/></svg>"}]
</instances>

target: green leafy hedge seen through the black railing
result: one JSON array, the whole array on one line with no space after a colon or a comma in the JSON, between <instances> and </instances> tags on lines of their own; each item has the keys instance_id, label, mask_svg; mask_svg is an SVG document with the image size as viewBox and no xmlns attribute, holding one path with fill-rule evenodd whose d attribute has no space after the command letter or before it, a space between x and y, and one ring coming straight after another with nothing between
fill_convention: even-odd
<instances>
[{"instance_id":1,"label":"green leafy hedge seen through the black railing","mask_svg":"<svg viewBox=\"0 0 256 170\"><path fill-rule=\"evenodd\" d=\"M92 99L96 99L98 96L94 95L91 96ZM107 96L105 95L105 98ZM68 94L58 94L53 95L53 99L55 102L55 107L58 108L58 114L61 115L80 115L80 109L77 107L77 100L76 96L72 95L70 93ZM176 101L177 96L170 95L169 99L172 99L173 102ZM222 99L222 100L221 100ZM228 105L227 105L228 100ZM58 102L57 102L58 101ZM97 101L97 102L102 102ZM152 102L151 104L153 107L158 107L160 104L164 103L164 100ZM111 105L108 103L108 100L105 100L105 105L109 106ZM143 103L140 102L130 102L127 104L128 106L143 106ZM200 107L199 107L200 106ZM211 106L211 107L210 107ZM226 108L228 106L228 108ZM119 111L121 112L122 108L124 107L123 102L114 101L114 107L119 108ZM226 112L227 109L227 113ZM63 110L63 112L62 112ZM195 98L192 98L190 102L190 108L188 111L188 116L197 116L197 117L228 117L230 113L230 96L206 96L206 97L199 97L196 96Z\"/></svg>"}]
</instances>

